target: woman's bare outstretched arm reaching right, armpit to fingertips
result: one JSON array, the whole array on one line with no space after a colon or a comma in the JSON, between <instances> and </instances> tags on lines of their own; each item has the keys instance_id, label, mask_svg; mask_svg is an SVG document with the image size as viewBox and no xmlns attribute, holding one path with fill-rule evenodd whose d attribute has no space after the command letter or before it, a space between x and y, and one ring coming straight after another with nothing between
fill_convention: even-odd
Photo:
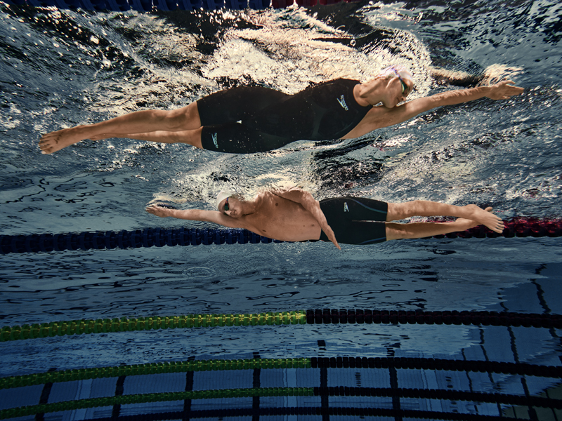
<instances>
[{"instance_id":1,"label":"woman's bare outstretched arm reaching right, armpit to fingertips","mask_svg":"<svg viewBox=\"0 0 562 421\"><path fill-rule=\"evenodd\" d=\"M358 138L377 128L403 123L422 112L427 112L436 107L462 104L463 102L478 100L480 98L507 100L525 91L523 88L515 86L513 83L514 81L507 80L492 86L478 86L477 88L447 91L429 97L417 98L416 100L406 102L394 108L373 107L370 109L367 116L365 116L365 119L363 119L353 131L346 135L346 138Z\"/></svg>"}]
</instances>

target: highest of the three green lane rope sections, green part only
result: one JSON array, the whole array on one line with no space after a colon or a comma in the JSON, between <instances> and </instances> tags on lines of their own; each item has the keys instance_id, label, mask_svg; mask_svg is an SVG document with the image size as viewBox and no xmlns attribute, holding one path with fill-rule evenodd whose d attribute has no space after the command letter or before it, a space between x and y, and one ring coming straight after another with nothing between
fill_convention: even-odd
<instances>
[{"instance_id":1,"label":"highest of the three green lane rope sections, green part only","mask_svg":"<svg viewBox=\"0 0 562 421\"><path fill-rule=\"evenodd\" d=\"M187 314L128 319L53 321L23 326L4 326L0 342L91 333L131 332L152 329L208 328L214 326L265 326L306 324L306 311L259 314Z\"/></svg>"}]
</instances>

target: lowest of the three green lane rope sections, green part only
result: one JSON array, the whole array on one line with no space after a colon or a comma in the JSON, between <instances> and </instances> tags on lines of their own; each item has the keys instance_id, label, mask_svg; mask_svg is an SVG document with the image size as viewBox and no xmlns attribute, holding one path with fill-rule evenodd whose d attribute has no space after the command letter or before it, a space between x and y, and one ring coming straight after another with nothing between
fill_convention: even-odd
<instances>
[{"instance_id":1,"label":"lowest of the three green lane rope sections, green part only","mask_svg":"<svg viewBox=\"0 0 562 421\"><path fill-rule=\"evenodd\" d=\"M107 396L105 398L80 399L77 401L44 403L41 405L20 406L18 408L4 409L0 410L0 420L14 417L25 417L39 413L53 413L63 410L77 410L84 408L100 408L103 406L126 405L129 403L183 401L185 399L246 398L253 396L313 395L313 387L261 387L253 389L192 390L188 392L131 394Z\"/></svg>"}]
</instances>

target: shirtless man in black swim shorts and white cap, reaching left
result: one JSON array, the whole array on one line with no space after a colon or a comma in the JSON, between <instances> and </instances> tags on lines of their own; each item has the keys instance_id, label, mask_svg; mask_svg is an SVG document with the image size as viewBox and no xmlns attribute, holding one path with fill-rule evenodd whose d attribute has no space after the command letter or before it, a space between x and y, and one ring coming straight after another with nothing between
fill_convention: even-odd
<instances>
[{"instance_id":1,"label":"shirtless man in black swim shorts and white cap, reaching left","mask_svg":"<svg viewBox=\"0 0 562 421\"><path fill-rule=\"evenodd\" d=\"M323 240L338 243L373 244L387 240L417 239L464 231L485 225L501 234L504 224L492 208L454 206L432 201L385 203L361 197L316 201L300 189L270 190L245 201L230 192L216 199L218 210L176 210L151 205L149 213L161 218L214 222L229 228L244 228L281 241ZM454 216L454 222L395 223L411 216ZM341 250L341 248L340 248Z\"/></svg>"}]
</instances>

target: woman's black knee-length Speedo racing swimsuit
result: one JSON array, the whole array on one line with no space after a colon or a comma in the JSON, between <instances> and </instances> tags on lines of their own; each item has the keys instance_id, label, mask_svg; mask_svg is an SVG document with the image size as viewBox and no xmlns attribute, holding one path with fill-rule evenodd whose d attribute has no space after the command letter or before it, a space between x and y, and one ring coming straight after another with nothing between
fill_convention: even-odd
<instances>
[{"instance_id":1,"label":"woman's black knee-length Speedo racing swimsuit","mask_svg":"<svg viewBox=\"0 0 562 421\"><path fill-rule=\"evenodd\" d=\"M204 149L235 154L266 152L295 140L332 140L349 133L371 107L360 106L353 87L336 79L287 95L247 86L197 101Z\"/></svg>"}]
</instances>

